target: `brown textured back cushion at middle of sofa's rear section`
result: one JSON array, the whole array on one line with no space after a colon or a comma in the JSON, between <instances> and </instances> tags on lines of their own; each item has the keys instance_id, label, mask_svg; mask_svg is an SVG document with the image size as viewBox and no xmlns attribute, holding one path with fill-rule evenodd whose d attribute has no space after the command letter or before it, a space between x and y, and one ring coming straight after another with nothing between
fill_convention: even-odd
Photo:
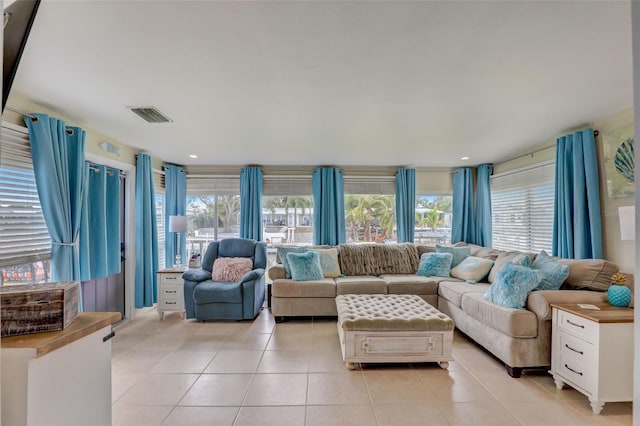
<instances>
[{"instance_id":1,"label":"brown textured back cushion at middle of sofa's rear section","mask_svg":"<svg viewBox=\"0 0 640 426\"><path fill-rule=\"evenodd\" d=\"M344 275L415 274L418 250L411 243L340 244L340 270Z\"/></svg>"}]
</instances>

